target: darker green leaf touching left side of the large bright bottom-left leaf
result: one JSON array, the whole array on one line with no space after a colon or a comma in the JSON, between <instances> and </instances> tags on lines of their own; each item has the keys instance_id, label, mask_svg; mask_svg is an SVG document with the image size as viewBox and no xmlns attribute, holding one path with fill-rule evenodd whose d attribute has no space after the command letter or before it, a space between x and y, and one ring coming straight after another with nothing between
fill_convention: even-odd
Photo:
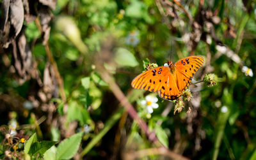
<instances>
[{"instance_id":1,"label":"darker green leaf touching left side of the large bright bottom-left leaf","mask_svg":"<svg viewBox=\"0 0 256 160\"><path fill-rule=\"evenodd\" d=\"M36 156L38 153L43 155L46 150L50 149L52 145L56 144L57 142L53 141L42 141L42 142L35 142L31 145L31 149L29 150L28 154L31 156Z\"/></svg>"}]
</instances>

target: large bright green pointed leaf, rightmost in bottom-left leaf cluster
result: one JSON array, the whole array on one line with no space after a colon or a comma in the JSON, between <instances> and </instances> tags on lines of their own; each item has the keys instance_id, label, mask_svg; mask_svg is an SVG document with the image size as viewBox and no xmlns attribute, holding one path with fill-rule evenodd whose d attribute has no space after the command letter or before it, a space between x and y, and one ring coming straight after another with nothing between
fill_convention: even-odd
<instances>
[{"instance_id":1,"label":"large bright green pointed leaf, rightmost in bottom-left leaf cluster","mask_svg":"<svg viewBox=\"0 0 256 160\"><path fill-rule=\"evenodd\" d=\"M63 140L57 147L56 159L70 159L72 158L81 143L83 133L77 133L70 138Z\"/></svg>"}]
</instances>

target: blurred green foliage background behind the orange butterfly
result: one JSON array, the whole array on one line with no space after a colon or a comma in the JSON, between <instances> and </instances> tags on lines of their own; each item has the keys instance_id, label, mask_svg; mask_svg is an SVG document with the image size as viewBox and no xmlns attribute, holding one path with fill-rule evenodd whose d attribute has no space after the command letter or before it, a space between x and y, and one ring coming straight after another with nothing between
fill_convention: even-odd
<instances>
[{"instance_id":1,"label":"blurred green foliage background behind the orange butterfly","mask_svg":"<svg viewBox=\"0 0 256 160\"><path fill-rule=\"evenodd\" d=\"M76 154L83 159L163 158L146 152L161 145L127 116L103 72L169 150L189 159L256 159L255 7L233 0L58 1L50 10L49 40L42 15L41 23L22 26L39 78L31 73L20 82L12 47L1 48L1 127L57 142L83 131ZM173 62L201 55L205 64L192 83L207 73L217 83L191 84L193 98L175 115L175 102L131 87L149 61L163 66L171 55ZM158 99L152 113L141 103L148 94ZM1 129L2 142L5 134Z\"/></svg>"}]
</instances>

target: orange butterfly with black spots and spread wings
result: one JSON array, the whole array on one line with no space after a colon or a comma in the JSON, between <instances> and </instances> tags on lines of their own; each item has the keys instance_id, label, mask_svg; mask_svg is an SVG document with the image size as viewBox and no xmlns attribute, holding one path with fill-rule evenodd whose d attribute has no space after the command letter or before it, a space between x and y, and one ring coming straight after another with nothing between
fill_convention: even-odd
<instances>
[{"instance_id":1,"label":"orange butterfly with black spots and spread wings","mask_svg":"<svg viewBox=\"0 0 256 160\"><path fill-rule=\"evenodd\" d=\"M173 64L148 69L132 80L134 89L145 89L157 94L164 99L178 99L188 88L196 71L204 64L204 58L189 56Z\"/></svg>"}]
</instances>

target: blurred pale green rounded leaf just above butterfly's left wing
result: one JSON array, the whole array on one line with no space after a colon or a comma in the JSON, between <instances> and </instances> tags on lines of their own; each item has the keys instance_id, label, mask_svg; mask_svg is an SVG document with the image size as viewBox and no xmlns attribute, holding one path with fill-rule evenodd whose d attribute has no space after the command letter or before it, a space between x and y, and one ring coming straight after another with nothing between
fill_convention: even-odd
<instances>
[{"instance_id":1,"label":"blurred pale green rounded leaf just above butterfly's left wing","mask_svg":"<svg viewBox=\"0 0 256 160\"><path fill-rule=\"evenodd\" d=\"M123 67L135 67L139 64L134 55L125 48L118 48L115 54L115 62Z\"/></svg>"}]
</instances>

